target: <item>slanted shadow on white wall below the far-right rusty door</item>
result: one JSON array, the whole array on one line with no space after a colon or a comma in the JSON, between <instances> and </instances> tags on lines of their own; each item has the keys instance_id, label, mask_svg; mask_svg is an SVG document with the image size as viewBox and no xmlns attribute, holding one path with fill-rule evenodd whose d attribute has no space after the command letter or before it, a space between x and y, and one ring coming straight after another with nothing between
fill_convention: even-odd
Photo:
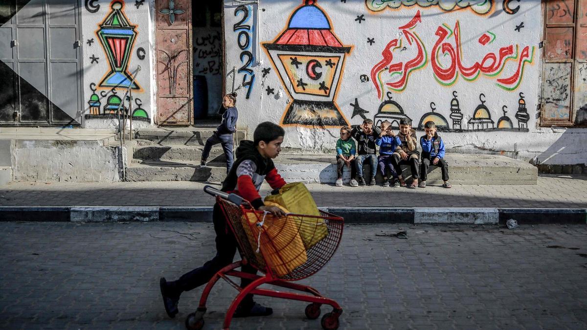
<instances>
[{"instance_id":1,"label":"slanted shadow on white wall below the far-right rusty door","mask_svg":"<svg viewBox=\"0 0 587 330\"><path fill-rule=\"evenodd\" d=\"M586 128L568 129L537 157L537 163L558 165L587 164L586 139Z\"/></svg>"}]
</instances>

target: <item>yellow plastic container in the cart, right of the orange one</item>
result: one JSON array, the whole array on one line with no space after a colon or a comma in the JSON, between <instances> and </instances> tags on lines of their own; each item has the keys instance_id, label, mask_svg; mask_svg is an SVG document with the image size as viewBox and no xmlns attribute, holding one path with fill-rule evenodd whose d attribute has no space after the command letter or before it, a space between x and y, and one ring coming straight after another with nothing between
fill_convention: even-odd
<instances>
[{"instance_id":1,"label":"yellow plastic container in the cart, right of the orange one","mask_svg":"<svg viewBox=\"0 0 587 330\"><path fill-rule=\"evenodd\" d=\"M272 202L287 208L291 213L320 215L312 194L302 182L288 183L279 189L279 194L265 197L265 203ZM316 245L328 235L328 228L321 218L291 217L299 228L306 250Z\"/></svg>"}]
</instances>

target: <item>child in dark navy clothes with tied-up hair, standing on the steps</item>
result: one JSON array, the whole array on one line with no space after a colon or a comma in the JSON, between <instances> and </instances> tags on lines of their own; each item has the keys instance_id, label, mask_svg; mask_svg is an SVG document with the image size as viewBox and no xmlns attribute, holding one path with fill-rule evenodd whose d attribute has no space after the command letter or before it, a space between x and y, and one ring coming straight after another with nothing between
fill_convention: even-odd
<instances>
[{"instance_id":1,"label":"child in dark navy clothes with tied-up hair, standing on the steps","mask_svg":"<svg viewBox=\"0 0 587 330\"><path fill-rule=\"evenodd\" d=\"M226 156L226 173L230 172L232 163L234 162L234 156L232 155L232 148L234 147L232 134L237 132L238 110L236 105L237 93L227 94L224 96L224 99L222 99L222 107L224 108L222 122L216 129L216 132L206 140L204 150L202 151L200 167L206 167L206 161L208 160L208 155L210 155L212 146L220 143L222 144L222 149L224 149L224 155Z\"/></svg>"}]
</instances>

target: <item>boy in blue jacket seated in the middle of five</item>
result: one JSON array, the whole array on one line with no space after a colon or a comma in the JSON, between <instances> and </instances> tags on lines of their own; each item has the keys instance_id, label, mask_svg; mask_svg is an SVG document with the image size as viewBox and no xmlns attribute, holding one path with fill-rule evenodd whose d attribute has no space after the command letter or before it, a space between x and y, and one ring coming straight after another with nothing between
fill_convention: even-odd
<instances>
[{"instance_id":1,"label":"boy in blue jacket seated in the middle of five","mask_svg":"<svg viewBox=\"0 0 587 330\"><path fill-rule=\"evenodd\" d=\"M390 185L392 187L399 187L400 183L396 180L397 173L393 167L392 156L397 146L402 144L402 142L400 142L396 133L393 132L392 123L387 120L381 123L381 133L375 140L375 144L379 146L379 157L377 161L379 162L379 170L383 176L383 187L389 187ZM391 184L390 179L393 180Z\"/></svg>"}]
</instances>

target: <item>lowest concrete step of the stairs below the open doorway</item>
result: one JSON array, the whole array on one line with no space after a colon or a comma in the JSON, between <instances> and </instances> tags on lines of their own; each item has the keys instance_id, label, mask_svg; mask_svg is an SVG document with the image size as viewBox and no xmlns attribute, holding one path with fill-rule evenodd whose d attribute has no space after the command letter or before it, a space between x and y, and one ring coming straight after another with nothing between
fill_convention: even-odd
<instances>
[{"instance_id":1,"label":"lowest concrete step of the stairs below the open doorway","mask_svg":"<svg viewBox=\"0 0 587 330\"><path fill-rule=\"evenodd\" d=\"M144 160L126 168L126 181L209 181L221 182L226 177L226 167L208 166L184 161Z\"/></svg>"}]
</instances>

